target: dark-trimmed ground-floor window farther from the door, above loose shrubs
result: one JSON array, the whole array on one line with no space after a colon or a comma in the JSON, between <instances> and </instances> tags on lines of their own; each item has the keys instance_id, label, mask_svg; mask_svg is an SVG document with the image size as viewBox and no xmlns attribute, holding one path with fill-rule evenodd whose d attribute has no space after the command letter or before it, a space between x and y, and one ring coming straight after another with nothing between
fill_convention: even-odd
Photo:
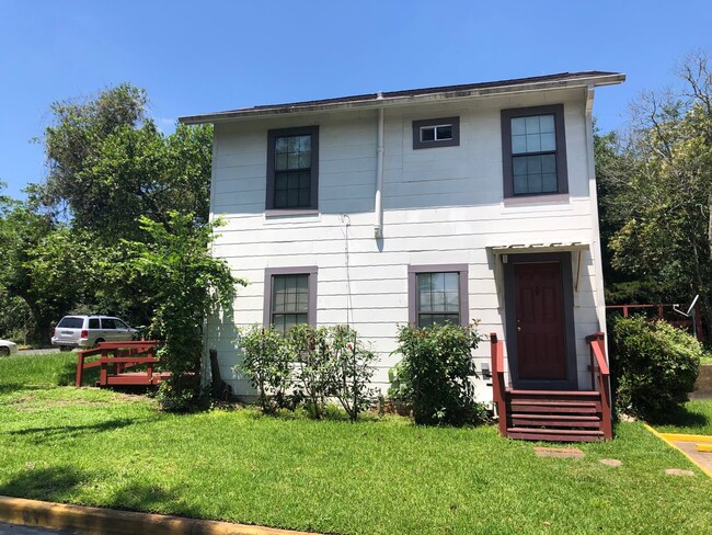
<instances>
[{"instance_id":1,"label":"dark-trimmed ground-floor window farther from the door, above loose shrubs","mask_svg":"<svg viewBox=\"0 0 712 535\"><path fill-rule=\"evenodd\" d=\"M299 323L317 323L317 268L265 270L264 323L284 334Z\"/></svg>"}]
</instances>

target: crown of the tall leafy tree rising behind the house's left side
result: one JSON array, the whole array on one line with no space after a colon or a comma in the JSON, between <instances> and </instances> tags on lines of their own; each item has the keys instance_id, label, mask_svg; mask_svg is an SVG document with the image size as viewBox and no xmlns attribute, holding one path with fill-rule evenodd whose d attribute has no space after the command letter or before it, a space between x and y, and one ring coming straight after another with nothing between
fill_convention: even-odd
<instances>
[{"instance_id":1,"label":"crown of the tall leafy tree rising behind the house's left side","mask_svg":"<svg viewBox=\"0 0 712 535\"><path fill-rule=\"evenodd\" d=\"M164 136L147 117L147 94L122 84L84 102L51 106L49 173L32 198L74 228L117 242L143 239L139 216L168 225L168 213L209 213L211 126L179 125Z\"/></svg>"}]
</instances>

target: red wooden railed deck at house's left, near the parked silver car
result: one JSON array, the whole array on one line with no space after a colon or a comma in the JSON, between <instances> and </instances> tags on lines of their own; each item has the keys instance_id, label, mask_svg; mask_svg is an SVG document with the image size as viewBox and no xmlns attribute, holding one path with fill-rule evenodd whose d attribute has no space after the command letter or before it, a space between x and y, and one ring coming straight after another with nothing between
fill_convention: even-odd
<instances>
[{"instance_id":1,"label":"red wooden railed deck at house's left, near the parked silver car","mask_svg":"<svg viewBox=\"0 0 712 535\"><path fill-rule=\"evenodd\" d=\"M153 365L161 361L156 357L156 340L141 340L130 342L101 342L96 349L80 351L77 360L77 386L81 386L84 369L101 367L100 385L108 384L152 384ZM89 362L91 356L100 355L95 361ZM131 374L133 377L120 377L126 368L146 365L145 374Z\"/></svg>"}]
</instances>

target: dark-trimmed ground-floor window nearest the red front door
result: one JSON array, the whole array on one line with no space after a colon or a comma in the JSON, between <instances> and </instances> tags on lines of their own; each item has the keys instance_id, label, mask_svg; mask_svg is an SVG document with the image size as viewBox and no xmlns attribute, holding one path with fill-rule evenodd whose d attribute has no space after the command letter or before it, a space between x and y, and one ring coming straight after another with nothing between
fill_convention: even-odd
<instances>
[{"instance_id":1,"label":"dark-trimmed ground-floor window nearest the red front door","mask_svg":"<svg viewBox=\"0 0 712 535\"><path fill-rule=\"evenodd\" d=\"M410 323L468 325L467 264L410 265L407 278Z\"/></svg>"}]
</instances>

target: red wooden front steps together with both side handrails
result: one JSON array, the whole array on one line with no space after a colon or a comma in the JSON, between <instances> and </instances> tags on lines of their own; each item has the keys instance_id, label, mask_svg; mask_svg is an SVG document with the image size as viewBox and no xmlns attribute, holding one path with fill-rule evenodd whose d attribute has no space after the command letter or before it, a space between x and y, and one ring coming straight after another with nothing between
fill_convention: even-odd
<instances>
[{"instance_id":1,"label":"red wooden front steps together with both side handrails","mask_svg":"<svg viewBox=\"0 0 712 535\"><path fill-rule=\"evenodd\" d=\"M493 399L508 439L593 442L613 437L604 334L588 337L592 390L519 390L505 383L504 344L491 334Z\"/></svg>"}]
</instances>

